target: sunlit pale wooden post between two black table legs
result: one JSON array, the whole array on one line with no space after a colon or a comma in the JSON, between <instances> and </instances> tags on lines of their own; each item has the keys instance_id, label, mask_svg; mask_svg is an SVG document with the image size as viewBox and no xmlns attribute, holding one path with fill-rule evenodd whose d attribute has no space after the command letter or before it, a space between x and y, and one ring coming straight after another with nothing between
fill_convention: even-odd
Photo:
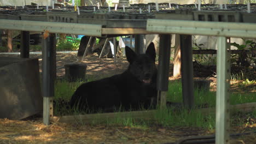
<instances>
[{"instance_id":1,"label":"sunlit pale wooden post between two black table legs","mask_svg":"<svg viewBox=\"0 0 256 144\"><path fill-rule=\"evenodd\" d=\"M173 77L179 76L181 76L181 38L179 34L175 34Z\"/></svg>"}]
</instances>

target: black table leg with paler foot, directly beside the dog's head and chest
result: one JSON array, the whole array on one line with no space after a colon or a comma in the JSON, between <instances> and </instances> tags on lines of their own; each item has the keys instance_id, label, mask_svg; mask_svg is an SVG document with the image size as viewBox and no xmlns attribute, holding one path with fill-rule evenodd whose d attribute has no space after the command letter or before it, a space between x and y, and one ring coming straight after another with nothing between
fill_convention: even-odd
<instances>
[{"instance_id":1,"label":"black table leg with paler foot, directly beside the dog's head and chest","mask_svg":"<svg viewBox=\"0 0 256 144\"><path fill-rule=\"evenodd\" d=\"M168 74L171 54L171 35L161 34L159 42L159 64L157 89L160 97L160 107L166 107L166 93L168 91Z\"/></svg>"}]
</instances>

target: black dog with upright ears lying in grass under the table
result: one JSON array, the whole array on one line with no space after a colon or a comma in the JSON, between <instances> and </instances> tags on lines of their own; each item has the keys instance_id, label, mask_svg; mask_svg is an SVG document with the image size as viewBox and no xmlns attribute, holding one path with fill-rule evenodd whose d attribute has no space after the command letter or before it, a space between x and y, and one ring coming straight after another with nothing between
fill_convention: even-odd
<instances>
[{"instance_id":1,"label":"black dog with upright ears lying in grass under the table","mask_svg":"<svg viewBox=\"0 0 256 144\"><path fill-rule=\"evenodd\" d=\"M130 63L128 69L119 75L83 83L72 95L71 107L104 112L120 106L125 110L149 108L151 99L157 95L155 46L151 43L146 54L137 55L127 46L125 52Z\"/></svg>"}]
</instances>

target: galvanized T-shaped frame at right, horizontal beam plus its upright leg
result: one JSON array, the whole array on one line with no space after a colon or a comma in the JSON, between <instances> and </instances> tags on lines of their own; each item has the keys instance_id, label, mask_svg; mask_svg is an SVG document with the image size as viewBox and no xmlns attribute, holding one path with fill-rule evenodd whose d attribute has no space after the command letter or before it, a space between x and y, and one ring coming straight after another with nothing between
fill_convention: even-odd
<instances>
[{"instance_id":1,"label":"galvanized T-shaped frame at right, horizontal beam plus its upright leg","mask_svg":"<svg viewBox=\"0 0 256 144\"><path fill-rule=\"evenodd\" d=\"M253 23L203 22L149 19L147 31L166 34L198 34L218 36L216 143L229 143L229 76L230 45L226 37L256 38Z\"/></svg>"}]
</instances>

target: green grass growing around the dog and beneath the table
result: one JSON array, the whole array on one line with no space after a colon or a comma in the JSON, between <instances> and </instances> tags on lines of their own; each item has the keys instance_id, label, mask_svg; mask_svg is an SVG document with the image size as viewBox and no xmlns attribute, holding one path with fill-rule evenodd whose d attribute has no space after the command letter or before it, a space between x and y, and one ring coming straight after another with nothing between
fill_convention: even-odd
<instances>
[{"instance_id":1,"label":"green grass growing around the dog and beneath the table","mask_svg":"<svg viewBox=\"0 0 256 144\"><path fill-rule=\"evenodd\" d=\"M71 95L74 93L75 89L81 85L83 82L72 82L68 83L66 81L58 81L55 87L55 100L56 99L65 99L69 100ZM247 82L248 83L248 82ZM255 93L231 93L230 94L230 103L242 104L250 103L256 101ZM207 105L208 107L215 107L216 105L216 92L199 92L195 90L195 105ZM182 103L182 88L181 81L172 81L169 83L169 91L167 93L167 101L172 101L176 103ZM69 110L61 104L55 106L55 115L77 115L78 110ZM116 112L121 112L122 110L117 109ZM87 111L88 112L88 111ZM239 110L234 111L235 113L241 113ZM234 113L233 112L233 113ZM90 113L90 111L89 111ZM101 113L101 111L97 111ZM242 113L243 118L239 118L236 114L233 114L231 119L232 125L241 125L245 124L244 117L256 117L256 110L249 114ZM215 128L215 114L214 113L201 113L200 111L193 109L177 109L175 107L168 107L167 109L158 109L153 118L149 119L135 119L132 117L119 117L117 116L114 119L104 119L104 125L122 125L124 127L136 127L136 128L149 128L149 127L199 127L207 130L214 130ZM102 120L102 119L101 119ZM250 123L251 121L248 121ZM79 124L88 124L86 122L77 121ZM102 124L97 119L90 123L91 125Z\"/></svg>"}]
</instances>

